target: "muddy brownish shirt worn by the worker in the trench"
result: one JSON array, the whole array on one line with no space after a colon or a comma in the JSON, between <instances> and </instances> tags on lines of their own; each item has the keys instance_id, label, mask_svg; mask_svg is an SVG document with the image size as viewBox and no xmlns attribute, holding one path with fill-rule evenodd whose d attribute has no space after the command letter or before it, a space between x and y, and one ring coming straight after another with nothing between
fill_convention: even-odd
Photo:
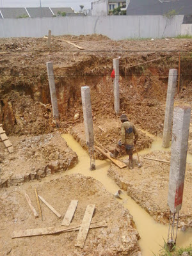
<instances>
[{"instance_id":1,"label":"muddy brownish shirt worn by the worker in the trench","mask_svg":"<svg viewBox=\"0 0 192 256\"><path fill-rule=\"evenodd\" d=\"M134 138L138 138L138 131L131 122L122 123L122 144L134 145Z\"/></svg>"}]
</instances>

